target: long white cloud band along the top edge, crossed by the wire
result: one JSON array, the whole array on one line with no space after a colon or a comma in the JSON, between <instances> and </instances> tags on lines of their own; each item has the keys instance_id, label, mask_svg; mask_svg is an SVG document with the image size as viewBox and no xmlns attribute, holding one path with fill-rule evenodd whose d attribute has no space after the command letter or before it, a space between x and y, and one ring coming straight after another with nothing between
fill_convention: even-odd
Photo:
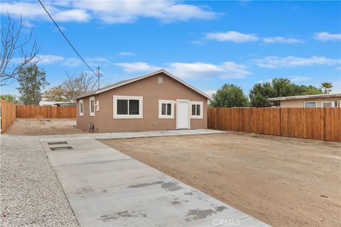
<instances>
[{"instance_id":1,"label":"long white cloud band along the top edge, crossed by the wire","mask_svg":"<svg viewBox=\"0 0 341 227\"><path fill-rule=\"evenodd\" d=\"M86 22L97 19L104 23L131 23L139 18L156 18L163 22L212 19L217 13L181 1L44 1L56 21ZM36 2L1 2L1 13L27 19L48 19Z\"/></svg>"}]
</instances>

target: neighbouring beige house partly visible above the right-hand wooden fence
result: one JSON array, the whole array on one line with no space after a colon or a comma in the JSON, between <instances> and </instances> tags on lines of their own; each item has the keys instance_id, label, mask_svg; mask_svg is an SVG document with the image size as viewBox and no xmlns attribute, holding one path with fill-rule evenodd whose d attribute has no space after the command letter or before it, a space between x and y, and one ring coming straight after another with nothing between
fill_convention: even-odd
<instances>
[{"instance_id":1,"label":"neighbouring beige house partly visible above the right-hand wooden fence","mask_svg":"<svg viewBox=\"0 0 341 227\"><path fill-rule=\"evenodd\" d=\"M281 103L281 107L341 107L341 93L286 96L271 98L269 100L279 101Z\"/></svg>"}]
</instances>

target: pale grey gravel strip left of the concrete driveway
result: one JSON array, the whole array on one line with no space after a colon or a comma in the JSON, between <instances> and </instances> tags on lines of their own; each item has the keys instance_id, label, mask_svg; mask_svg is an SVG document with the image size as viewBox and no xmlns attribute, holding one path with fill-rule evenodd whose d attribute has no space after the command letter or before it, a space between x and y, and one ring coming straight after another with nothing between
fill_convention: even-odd
<instances>
[{"instance_id":1,"label":"pale grey gravel strip left of the concrete driveway","mask_svg":"<svg viewBox=\"0 0 341 227\"><path fill-rule=\"evenodd\" d=\"M38 136L1 135L0 226L79 226Z\"/></svg>"}]
</instances>

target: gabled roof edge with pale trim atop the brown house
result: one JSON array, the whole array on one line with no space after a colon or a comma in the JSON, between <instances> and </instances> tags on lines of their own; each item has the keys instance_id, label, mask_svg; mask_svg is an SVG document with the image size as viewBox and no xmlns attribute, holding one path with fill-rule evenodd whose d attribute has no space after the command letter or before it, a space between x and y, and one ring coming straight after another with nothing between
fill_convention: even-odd
<instances>
[{"instance_id":1,"label":"gabled roof edge with pale trim atop the brown house","mask_svg":"<svg viewBox=\"0 0 341 227\"><path fill-rule=\"evenodd\" d=\"M95 95L95 94L100 94L102 92L107 92L107 91L109 91L111 89L114 89L114 88L117 88L117 87L121 87L121 86L124 86L126 84L130 84L132 82L136 82L136 81L139 81L141 79L145 79L147 77L154 76L154 75L159 74L161 72L163 74L166 74L168 77L171 77L171 78L175 79L176 81L180 82L181 84L184 84L186 87L188 87L188 88L192 89L193 91L201 94L202 96L205 96L207 99L212 100L212 98L209 95L205 94L204 92L201 92L199 89L196 89L195 87L193 87L192 85L184 82L183 80L179 79L178 77L175 77L173 74L167 72L166 70L158 70L156 72L151 72L149 74L144 74L144 75L142 75L140 77L135 77L135 78L132 78L132 79L122 80L120 82L117 82L117 83L114 83L114 84L110 84L107 87L103 87L102 89L99 89L97 91L90 92L88 94L83 94L81 96L78 96L76 99L82 99L82 98L87 97L87 96L92 96L92 95Z\"/></svg>"}]
</instances>

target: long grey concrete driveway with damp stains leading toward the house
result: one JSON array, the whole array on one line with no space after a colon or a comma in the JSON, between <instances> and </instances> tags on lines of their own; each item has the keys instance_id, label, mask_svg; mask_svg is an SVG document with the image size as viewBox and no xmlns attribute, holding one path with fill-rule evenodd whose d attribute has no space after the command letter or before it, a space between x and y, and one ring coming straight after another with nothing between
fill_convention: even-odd
<instances>
[{"instance_id":1,"label":"long grey concrete driveway with damp stains leading toward the house","mask_svg":"<svg viewBox=\"0 0 341 227\"><path fill-rule=\"evenodd\" d=\"M80 226L267 226L92 138L40 143Z\"/></svg>"}]
</instances>

